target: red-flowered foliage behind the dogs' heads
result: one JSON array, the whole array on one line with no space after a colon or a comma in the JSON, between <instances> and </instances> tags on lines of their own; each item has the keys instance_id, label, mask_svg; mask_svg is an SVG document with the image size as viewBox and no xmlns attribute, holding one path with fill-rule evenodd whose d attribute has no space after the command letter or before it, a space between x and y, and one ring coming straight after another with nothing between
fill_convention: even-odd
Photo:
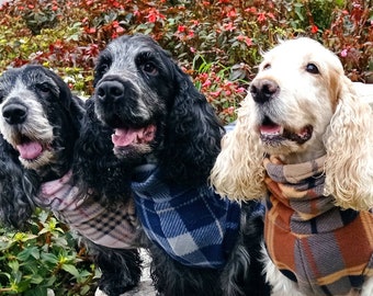
<instances>
[{"instance_id":1,"label":"red-flowered foliage behind the dogs' heads","mask_svg":"<svg viewBox=\"0 0 373 296\"><path fill-rule=\"evenodd\" d=\"M59 69L61 75L66 68L79 68L91 76L94 59L111 39L150 34L188 70L224 118L244 98L239 88L245 83L227 83L229 71L224 79L214 76L226 67L245 65L244 79L250 80L259 53L272 47L278 36L302 34L321 41L340 55L352 80L366 81L371 71L373 24L363 0L347 1L343 7L321 0L180 0L176 4L166 0L13 0L0 13L1 27L15 25L13 32L0 33L11 41L0 47L7 56L0 61L2 68L32 61ZM203 62L213 65L207 80L200 70ZM91 80L79 89L90 93Z\"/></svg>"}]
</instances>

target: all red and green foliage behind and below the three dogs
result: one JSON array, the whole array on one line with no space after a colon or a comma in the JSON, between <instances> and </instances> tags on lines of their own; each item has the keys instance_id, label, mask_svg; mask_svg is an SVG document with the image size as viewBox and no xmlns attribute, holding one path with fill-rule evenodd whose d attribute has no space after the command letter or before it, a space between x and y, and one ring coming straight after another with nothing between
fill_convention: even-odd
<instances>
[{"instance_id":1,"label":"all red and green foliage behind and below the three dogs","mask_svg":"<svg viewBox=\"0 0 373 296\"><path fill-rule=\"evenodd\" d=\"M310 36L373 83L371 0L14 0L0 8L0 71L42 64L89 96L99 52L133 33L170 50L224 122L279 37ZM93 295L100 273L67 230L43 210L26 232L1 228L0 295Z\"/></svg>"}]
</instances>

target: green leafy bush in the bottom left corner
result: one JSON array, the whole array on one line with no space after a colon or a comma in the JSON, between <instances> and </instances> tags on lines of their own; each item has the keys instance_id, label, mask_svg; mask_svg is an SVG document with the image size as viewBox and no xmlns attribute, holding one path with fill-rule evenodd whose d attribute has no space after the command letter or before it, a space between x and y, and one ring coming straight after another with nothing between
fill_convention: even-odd
<instances>
[{"instance_id":1,"label":"green leafy bush in the bottom left corner","mask_svg":"<svg viewBox=\"0 0 373 296\"><path fill-rule=\"evenodd\" d=\"M27 229L0 229L0 294L93 295L99 271L66 226L38 210Z\"/></svg>"}]
</instances>

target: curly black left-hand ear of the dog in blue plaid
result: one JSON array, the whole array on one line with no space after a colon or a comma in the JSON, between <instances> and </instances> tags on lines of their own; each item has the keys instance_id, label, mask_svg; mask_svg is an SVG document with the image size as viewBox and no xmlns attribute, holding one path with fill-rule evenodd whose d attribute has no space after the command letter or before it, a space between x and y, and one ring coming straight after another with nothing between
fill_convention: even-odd
<instances>
[{"instance_id":1,"label":"curly black left-hand ear of the dog in blue plaid","mask_svg":"<svg viewBox=\"0 0 373 296\"><path fill-rule=\"evenodd\" d=\"M75 146L74 174L80 194L94 191L94 197L115 206L131 197L129 167L113 153L113 129L94 114L93 100L86 101L86 115Z\"/></svg>"}]
</instances>

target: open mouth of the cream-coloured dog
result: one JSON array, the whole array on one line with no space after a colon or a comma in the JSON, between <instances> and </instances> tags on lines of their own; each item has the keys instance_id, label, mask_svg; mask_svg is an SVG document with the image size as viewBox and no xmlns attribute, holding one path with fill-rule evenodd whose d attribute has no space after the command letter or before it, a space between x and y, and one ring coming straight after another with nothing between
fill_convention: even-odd
<instances>
[{"instance_id":1,"label":"open mouth of the cream-coloured dog","mask_svg":"<svg viewBox=\"0 0 373 296\"><path fill-rule=\"evenodd\" d=\"M259 126L259 132L261 140L267 144L291 140L302 145L310 139L313 126L306 125L299 130L290 130L289 128L275 124L265 116L264 121Z\"/></svg>"}]
</instances>

